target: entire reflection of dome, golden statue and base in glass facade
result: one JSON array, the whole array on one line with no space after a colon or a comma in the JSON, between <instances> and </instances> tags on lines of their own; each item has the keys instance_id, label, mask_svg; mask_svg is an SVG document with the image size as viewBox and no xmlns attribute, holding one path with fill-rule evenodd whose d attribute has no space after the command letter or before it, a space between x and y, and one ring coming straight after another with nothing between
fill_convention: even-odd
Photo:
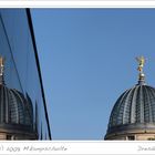
<instances>
[{"instance_id":1,"label":"entire reflection of dome, golden statue and base in glass facade","mask_svg":"<svg viewBox=\"0 0 155 155\"><path fill-rule=\"evenodd\" d=\"M28 94L25 99L18 90L7 87L3 68L0 56L0 135L16 140L37 140L31 99Z\"/></svg>"}]
</instances>

